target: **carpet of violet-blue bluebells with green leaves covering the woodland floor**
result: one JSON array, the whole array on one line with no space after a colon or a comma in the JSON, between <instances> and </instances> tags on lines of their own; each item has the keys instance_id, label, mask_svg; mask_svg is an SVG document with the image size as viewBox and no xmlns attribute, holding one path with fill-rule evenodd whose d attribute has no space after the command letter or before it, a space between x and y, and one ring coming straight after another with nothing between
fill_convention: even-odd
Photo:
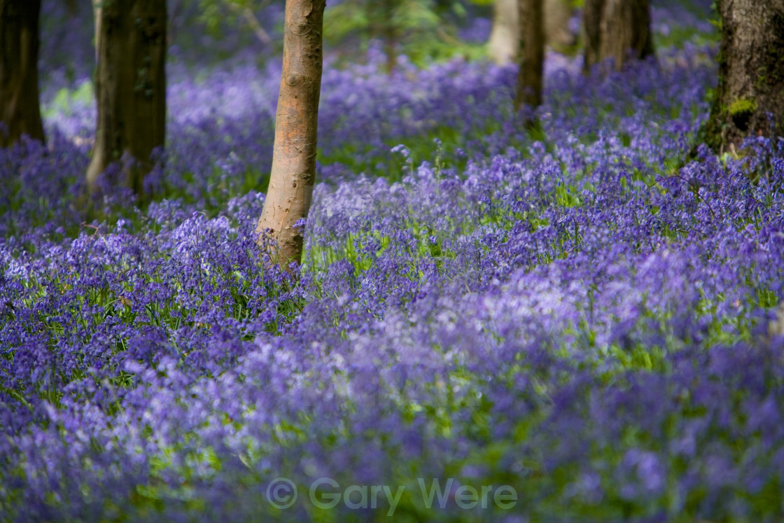
<instances>
[{"instance_id":1,"label":"carpet of violet-blue bluebells with green leaves covering the woodland floor","mask_svg":"<svg viewBox=\"0 0 784 523\"><path fill-rule=\"evenodd\" d=\"M278 64L169 67L141 206L87 209L92 88L45 89L0 151L0 520L781 521L784 143L689 155L713 51L549 54L532 129L515 67L380 64L325 67L299 278L253 238Z\"/></svg>"}]
</instances>

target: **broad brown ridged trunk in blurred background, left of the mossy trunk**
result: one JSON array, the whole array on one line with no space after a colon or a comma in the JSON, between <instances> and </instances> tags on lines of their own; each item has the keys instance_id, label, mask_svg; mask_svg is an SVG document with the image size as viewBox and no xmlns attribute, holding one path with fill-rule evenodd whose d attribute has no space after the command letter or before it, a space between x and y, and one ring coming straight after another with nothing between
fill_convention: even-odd
<instances>
[{"instance_id":1,"label":"broad brown ridged trunk in blurred background, left of the mossy trunk","mask_svg":"<svg viewBox=\"0 0 784 523\"><path fill-rule=\"evenodd\" d=\"M654 53L648 0L586 0L583 29L585 71L608 58L620 71L630 59L642 60Z\"/></svg>"}]
</instances>

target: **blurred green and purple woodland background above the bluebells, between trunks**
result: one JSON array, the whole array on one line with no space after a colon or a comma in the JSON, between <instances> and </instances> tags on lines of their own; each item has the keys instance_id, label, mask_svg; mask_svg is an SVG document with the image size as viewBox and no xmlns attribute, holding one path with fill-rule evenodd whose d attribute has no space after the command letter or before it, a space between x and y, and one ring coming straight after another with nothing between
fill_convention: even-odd
<instances>
[{"instance_id":1,"label":"blurred green and purple woodland background above the bluebells, between trunks","mask_svg":"<svg viewBox=\"0 0 784 523\"><path fill-rule=\"evenodd\" d=\"M582 8L583 0L569 1ZM420 67L454 56L481 59L486 56L493 4L494 0L329 0L325 45L330 67L363 63L368 53L378 52ZM652 0L657 47L715 41L711 4ZM199 70L227 60L260 66L278 60L284 7L285 0L169 0L170 60ZM690 13L693 19L677 20L671 13ZM579 11L574 22L579 26ZM92 77L95 64L90 3L45 0L41 24L42 87L65 82L78 88ZM48 75L56 81L48 82Z\"/></svg>"}]
</instances>

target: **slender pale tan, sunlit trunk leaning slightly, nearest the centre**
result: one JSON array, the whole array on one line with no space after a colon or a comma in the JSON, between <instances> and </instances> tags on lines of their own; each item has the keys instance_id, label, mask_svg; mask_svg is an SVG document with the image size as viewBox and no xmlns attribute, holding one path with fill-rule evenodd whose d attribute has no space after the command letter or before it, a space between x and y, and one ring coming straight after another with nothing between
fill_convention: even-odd
<instances>
[{"instance_id":1,"label":"slender pale tan, sunlit trunk leaning slightly, nearest the centre","mask_svg":"<svg viewBox=\"0 0 784 523\"><path fill-rule=\"evenodd\" d=\"M303 230L316 179L318 99L321 94L321 32L325 0L286 0L283 71L270 187L256 233L281 267L300 263Z\"/></svg>"}]
</instances>

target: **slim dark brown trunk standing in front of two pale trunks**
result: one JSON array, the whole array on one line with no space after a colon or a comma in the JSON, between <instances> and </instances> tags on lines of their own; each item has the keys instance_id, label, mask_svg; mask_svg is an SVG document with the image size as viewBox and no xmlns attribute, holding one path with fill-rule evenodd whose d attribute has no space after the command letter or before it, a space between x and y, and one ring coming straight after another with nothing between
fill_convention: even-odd
<instances>
[{"instance_id":1,"label":"slim dark brown trunk standing in front of two pale trunks","mask_svg":"<svg viewBox=\"0 0 784 523\"><path fill-rule=\"evenodd\" d=\"M521 64L517 74L517 97L514 106L542 104L544 67L544 24L542 0L518 0L520 9Z\"/></svg>"}]
</instances>

